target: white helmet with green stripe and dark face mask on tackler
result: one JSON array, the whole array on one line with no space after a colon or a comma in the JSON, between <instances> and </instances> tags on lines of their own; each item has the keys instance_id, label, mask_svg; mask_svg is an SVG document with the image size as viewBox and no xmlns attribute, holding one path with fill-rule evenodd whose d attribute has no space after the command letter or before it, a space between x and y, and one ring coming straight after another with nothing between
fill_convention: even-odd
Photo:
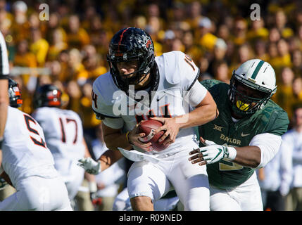
<instances>
[{"instance_id":1,"label":"white helmet with green stripe and dark face mask on tackler","mask_svg":"<svg viewBox=\"0 0 302 225\"><path fill-rule=\"evenodd\" d=\"M239 117L253 115L275 93L275 71L263 60L248 60L233 71L230 87L233 113Z\"/></svg>"}]
</instances>

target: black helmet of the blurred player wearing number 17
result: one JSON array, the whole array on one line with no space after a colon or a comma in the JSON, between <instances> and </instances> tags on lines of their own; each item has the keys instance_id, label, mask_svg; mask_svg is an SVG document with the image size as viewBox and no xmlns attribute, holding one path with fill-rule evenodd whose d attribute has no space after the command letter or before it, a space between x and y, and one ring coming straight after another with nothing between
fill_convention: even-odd
<instances>
[{"instance_id":1,"label":"black helmet of the blurred player wearing number 17","mask_svg":"<svg viewBox=\"0 0 302 225\"><path fill-rule=\"evenodd\" d=\"M53 84L39 86L34 93L34 108L60 107L62 91Z\"/></svg>"}]
</instances>

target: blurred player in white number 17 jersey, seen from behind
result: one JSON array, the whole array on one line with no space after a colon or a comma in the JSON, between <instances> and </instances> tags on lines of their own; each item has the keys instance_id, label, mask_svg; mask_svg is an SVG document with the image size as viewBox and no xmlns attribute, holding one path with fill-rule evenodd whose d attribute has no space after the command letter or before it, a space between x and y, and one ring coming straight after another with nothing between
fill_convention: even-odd
<instances>
[{"instance_id":1,"label":"blurred player in white number 17 jersey, seen from behind","mask_svg":"<svg viewBox=\"0 0 302 225\"><path fill-rule=\"evenodd\" d=\"M84 179L84 169L77 166L77 160L90 154L83 138L82 120L73 110L60 108L61 94L53 84L39 86L34 93L32 117L43 128L54 166L63 176L69 199L73 201ZM91 182L90 191L96 192L94 176L87 174L87 179Z\"/></svg>"}]
</instances>

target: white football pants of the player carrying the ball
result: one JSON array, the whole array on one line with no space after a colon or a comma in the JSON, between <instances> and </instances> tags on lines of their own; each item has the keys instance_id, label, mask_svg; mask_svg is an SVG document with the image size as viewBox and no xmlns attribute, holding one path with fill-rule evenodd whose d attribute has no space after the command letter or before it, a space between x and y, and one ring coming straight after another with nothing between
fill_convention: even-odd
<instances>
[{"instance_id":1,"label":"white football pants of the player carrying the ball","mask_svg":"<svg viewBox=\"0 0 302 225\"><path fill-rule=\"evenodd\" d=\"M160 158L158 163L134 162L128 172L130 198L149 196L154 203L174 187L184 210L210 210L206 166L189 162L191 150Z\"/></svg>"}]
</instances>

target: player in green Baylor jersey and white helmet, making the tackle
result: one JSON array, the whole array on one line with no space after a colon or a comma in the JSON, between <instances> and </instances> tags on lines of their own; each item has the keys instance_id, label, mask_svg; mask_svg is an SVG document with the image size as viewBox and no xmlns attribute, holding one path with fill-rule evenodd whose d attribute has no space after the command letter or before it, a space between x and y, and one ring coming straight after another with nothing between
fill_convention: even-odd
<instances>
[{"instance_id":1,"label":"player in green Baylor jersey and white helmet, making the tackle","mask_svg":"<svg viewBox=\"0 0 302 225\"><path fill-rule=\"evenodd\" d=\"M219 116L199 127L203 146L189 160L206 165L210 210L263 210L255 169L276 155L287 131L287 113L270 97L277 90L269 63L253 59L232 74L230 84L201 82L218 105Z\"/></svg>"}]
</instances>

